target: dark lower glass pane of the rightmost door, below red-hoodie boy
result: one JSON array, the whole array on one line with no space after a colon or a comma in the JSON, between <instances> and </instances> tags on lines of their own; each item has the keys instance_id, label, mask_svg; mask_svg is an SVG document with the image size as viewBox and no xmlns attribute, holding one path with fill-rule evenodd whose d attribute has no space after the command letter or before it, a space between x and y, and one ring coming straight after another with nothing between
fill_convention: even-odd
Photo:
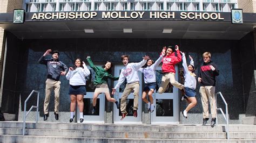
<instances>
[{"instance_id":1,"label":"dark lower glass pane of the rightmost door, below red-hoodie boy","mask_svg":"<svg viewBox=\"0 0 256 143\"><path fill-rule=\"evenodd\" d=\"M157 116L173 116L173 99L156 99Z\"/></svg>"}]
</instances>

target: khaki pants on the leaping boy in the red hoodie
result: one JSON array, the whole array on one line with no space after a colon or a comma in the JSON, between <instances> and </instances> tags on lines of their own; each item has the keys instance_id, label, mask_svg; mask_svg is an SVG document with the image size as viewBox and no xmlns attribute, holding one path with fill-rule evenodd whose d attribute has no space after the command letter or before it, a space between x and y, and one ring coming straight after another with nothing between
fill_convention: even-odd
<instances>
[{"instance_id":1,"label":"khaki pants on the leaping boy in the red hoodie","mask_svg":"<svg viewBox=\"0 0 256 143\"><path fill-rule=\"evenodd\" d=\"M177 87L178 89L183 89L184 85L180 84L175 80L175 74L174 73L166 73L163 75L162 80L161 80L161 85L158 89L159 94L163 94L165 90L167 89L167 85L169 82L174 86Z\"/></svg>"}]
</instances>

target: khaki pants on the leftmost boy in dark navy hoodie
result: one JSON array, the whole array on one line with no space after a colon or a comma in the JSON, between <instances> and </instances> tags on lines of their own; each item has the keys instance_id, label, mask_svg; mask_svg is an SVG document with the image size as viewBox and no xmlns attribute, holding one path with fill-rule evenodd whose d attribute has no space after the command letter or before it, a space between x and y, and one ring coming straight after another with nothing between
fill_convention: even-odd
<instances>
[{"instance_id":1,"label":"khaki pants on the leftmost boy in dark navy hoodie","mask_svg":"<svg viewBox=\"0 0 256 143\"><path fill-rule=\"evenodd\" d=\"M47 79L45 81L45 98L44 98L44 114L48 114L49 110L49 102L51 92L54 89L55 93L55 108L54 111L58 114L59 113L59 89L60 89L60 81L55 81L51 79Z\"/></svg>"}]
</instances>

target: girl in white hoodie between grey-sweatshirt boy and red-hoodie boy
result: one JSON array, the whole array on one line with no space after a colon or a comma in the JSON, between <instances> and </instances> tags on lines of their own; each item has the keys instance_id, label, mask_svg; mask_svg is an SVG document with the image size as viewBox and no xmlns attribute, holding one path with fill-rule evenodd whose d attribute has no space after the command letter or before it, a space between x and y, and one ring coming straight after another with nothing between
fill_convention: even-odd
<instances>
[{"instance_id":1,"label":"girl in white hoodie between grey-sweatshirt boy and red-hoodie boy","mask_svg":"<svg viewBox=\"0 0 256 143\"><path fill-rule=\"evenodd\" d=\"M154 62L152 59L149 59L147 60L147 63L142 68L139 69L139 71L144 74L144 82L145 82L145 87L142 92L142 99L145 103L147 103L147 109L150 112L153 112L155 108L152 94L157 87L156 69L157 69L157 66L161 63L161 60L163 59L164 55L165 55L165 48L163 48L163 51L156 62ZM147 94L149 95L150 102L146 98Z\"/></svg>"}]
</instances>

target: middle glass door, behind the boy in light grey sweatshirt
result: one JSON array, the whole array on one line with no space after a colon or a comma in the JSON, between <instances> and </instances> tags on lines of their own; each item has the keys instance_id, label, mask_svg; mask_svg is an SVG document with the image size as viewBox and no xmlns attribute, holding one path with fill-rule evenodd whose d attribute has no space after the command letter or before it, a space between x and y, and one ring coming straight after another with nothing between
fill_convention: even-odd
<instances>
[{"instance_id":1,"label":"middle glass door, behind the boy in light grey sweatshirt","mask_svg":"<svg viewBox=\"0 0 256 143\"><path fill-rule=\"evenodd\" d=\"M119 76L120 75L120 71L122 70L124 66L116 66L114 67L114 76ZM120 111L120 109L118 110L117 108L113 108L114 109L114 123L115 124L142 124L142 74L140 72L139 73L139 78L140 78L140 91L139 91L139 107L138 107L138 116L137 117L133 117L133 100L134 100L134 96L133 96L133 92L131 92L131 94L128 96L127 101L126 101L126 111L128 113L128 115L126 115L126 117L123 120L120 120L122 118L122 113ZM118 81L114 81L114 85L117 84ZM116 98L119 103L121 102L121 97L123 95L123 91L125 89L125 85L126 85L126 80L123 82L122 85L120 85L120 87L117 89L116 91L116 95L114 95L114 98Z\"/></svg>"}]
</instances>

